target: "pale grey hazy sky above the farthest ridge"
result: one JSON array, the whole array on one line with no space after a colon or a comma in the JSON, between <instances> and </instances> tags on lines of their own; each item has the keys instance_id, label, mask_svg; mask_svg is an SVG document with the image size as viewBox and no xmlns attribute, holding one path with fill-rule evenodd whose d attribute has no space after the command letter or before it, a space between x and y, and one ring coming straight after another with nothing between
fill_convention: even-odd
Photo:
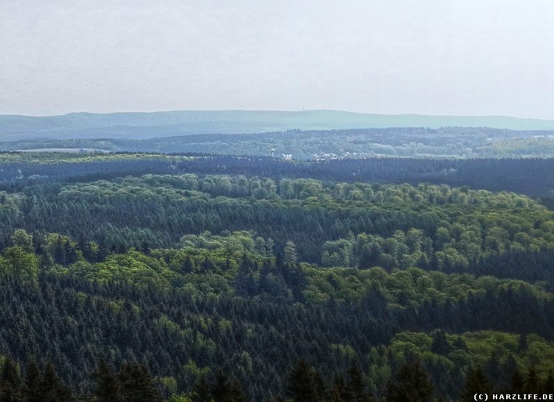
<instances>
[{"instance_id":1,"label":"pale grey hazy sky above the farthest ridge","mask_svg":"<svg viewBox=\"0 0 554 402\"><path fill-rule=\"evenodd\" d=\"M0 114L303 107L554 119L554 1L0 0Z\"/></svg>"}]
</instances>

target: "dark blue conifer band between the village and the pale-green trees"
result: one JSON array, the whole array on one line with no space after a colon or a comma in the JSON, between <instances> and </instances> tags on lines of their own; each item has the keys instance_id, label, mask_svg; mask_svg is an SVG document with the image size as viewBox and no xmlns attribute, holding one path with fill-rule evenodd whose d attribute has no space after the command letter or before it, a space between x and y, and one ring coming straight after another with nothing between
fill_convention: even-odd
<instances>
[{"instance_id":1,"label":"dark blue conifer band between the village and the pale-green trees","mask_svg":"<svg viewBox=\"0 0 554 402\"><path fill-rule=\"evenodd\" d=\"M554 159L368 158L285 161L230 155L141 153L1 153L0 190L42 182L85 182L126 175L195 173L244 175L272 180L306 178L333 182L447 184L475 190L513 191L531 197L554 194Z\"/></svg>"}]
</instances>

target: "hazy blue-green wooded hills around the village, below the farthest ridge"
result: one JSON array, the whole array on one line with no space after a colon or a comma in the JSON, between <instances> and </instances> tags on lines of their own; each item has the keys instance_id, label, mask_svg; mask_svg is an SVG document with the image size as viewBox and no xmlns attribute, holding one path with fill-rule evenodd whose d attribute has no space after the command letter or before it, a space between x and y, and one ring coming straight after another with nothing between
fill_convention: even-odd
<instances>
[{"instance_id":1,"label":"hazy blue-green wooded hills around the village, below the farthest ridge","mask_svg":"<svg viewBox=\"0 0 554 402\"><path fill-rule=\"evenodd\" d=\"M117 129L113 129L117 130ZM152 128L145 130L145 134ZM199 129L197 133L203 132ZM220 133L226 132L224 128ZM188 134L164 131L163 137L142 138L37 139L4 141L0 150L37 148L96 149L116 152L204 152L229 155L289 154L294 159L337 159L361 157L553 157L553 131L502 130L495 128L365 128L351 130L287 130L257 134ZM127 137L127 136L125 136ZM141 139L139 139L141 138Z\"/></svg>"}]
</instances>

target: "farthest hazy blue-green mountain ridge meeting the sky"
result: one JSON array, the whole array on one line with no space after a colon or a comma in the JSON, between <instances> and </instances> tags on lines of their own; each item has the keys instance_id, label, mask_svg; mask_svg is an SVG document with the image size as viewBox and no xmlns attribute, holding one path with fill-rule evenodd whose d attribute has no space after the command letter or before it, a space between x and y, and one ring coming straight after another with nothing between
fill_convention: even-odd
<instances>
[{"instance_id":1,"label":"farthest hazy blue-green mountain ridge meeting the sky","mask_svg":"<svg viewBox=\"0 0 554 402\"><path fill-rule=\"evenodd\" d=\"M0 141L21 139L148 139L188 134L238 134L285 130L388 127L488 127L554 130L554 120L508 116L363 114L337 110L182 110L174 112L70 113L60 116L0 115Z\"/></svg>"}]
</instances>

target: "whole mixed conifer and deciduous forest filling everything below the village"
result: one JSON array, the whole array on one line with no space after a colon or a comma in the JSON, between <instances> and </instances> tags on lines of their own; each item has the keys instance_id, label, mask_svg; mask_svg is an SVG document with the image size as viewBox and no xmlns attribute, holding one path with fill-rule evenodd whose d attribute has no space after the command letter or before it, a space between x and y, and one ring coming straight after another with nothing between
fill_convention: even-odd
<instances>
[{"instance_id":1,"label":"whole mixed conifer and deciduous forest filling everything below the village","mask_svg":"<svg viewBox=\"0 0 554 402\"><path fill-rule=\"evenodd\" d=\"M554 393L552 164L1 154L0 400Z\"/></svg>"}]
</instances>

